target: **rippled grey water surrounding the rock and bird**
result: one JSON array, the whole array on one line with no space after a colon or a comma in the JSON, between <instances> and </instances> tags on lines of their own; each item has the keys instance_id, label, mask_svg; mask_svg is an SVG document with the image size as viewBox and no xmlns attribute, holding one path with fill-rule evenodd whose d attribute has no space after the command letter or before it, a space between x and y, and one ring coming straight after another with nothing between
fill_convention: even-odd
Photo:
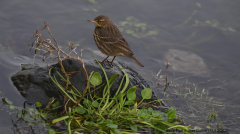
<instances>
[{"instance_id":1,"label":"rippled grey water surrounding the rock and bird","mask_svg":"<svg viewBox=\"0 0 240 134\"><path fill-rule=\"evenodd\" d=\"M93 40L93 20L106 15L119 27L135 57L145 66L117 57L139 72L160 94L168 74L174 81L165 98L178 109L185 125L206 129L208 113L215 108L223 128L237 133L240 110L240 1L236 0L122 0L122 1L30 1L2 0L0 4L0 96L22 106L25 101L12 85L10 76L22 63L32 63L32 33L47 21L58 44L67 50L68 42L85 49L83 58L93 60L90 52L103 59ZM50 38L43 32L43 37ZM170 67L166 70L167 61ZM37 56L36 63L44 65ZM159 76L158 76L159 78ZM160 83L160 85L157 85ZM182 89L175 88L178 84ZM192 86L189 86L192 85ZM196 87L197 85L197 87ZM196 89L196 90L195 90ZM199 96L181 97L188 92L208 92L211 101L199 103ZM176 97L176 91L179 97ZM185 91L185 92L184 92ZM187 99L188 98L188 99ZM205 100L200 98L200 100ZM14 133L8 109L0 110L0 133ZM194 110L193 110L194 109ZM215 124L216 125L216 124ZM40 132L39 132L40 133Z\"/></svg>"}]
</instances>

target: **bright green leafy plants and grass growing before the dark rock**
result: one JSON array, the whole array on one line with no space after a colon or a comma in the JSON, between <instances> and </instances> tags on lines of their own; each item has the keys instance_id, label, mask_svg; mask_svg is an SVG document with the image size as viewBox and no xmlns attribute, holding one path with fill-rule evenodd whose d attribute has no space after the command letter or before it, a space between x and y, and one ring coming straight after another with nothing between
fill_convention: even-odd
<instances>
[{"instance_id":1,"label":"bright green leafy plants and grass growing before the dark rock","mask_svg":"<svg viewBox=\"0 0 240 134\"><path fill-rule=\"evenodd\" d=\"M72 105L70 105L70 103L66 104L67 114L56 117L52 120L52 124L64 121L68 126L66 131L68 134L77 132L118 134L148 131L158 134L166 133L166 131L171 129L178 129L184 133L192 133L188 131L190 125L179 125L181 122L177 120L176 109L170 108L165 112L158 112L154 111L151 107L146 108L142 105L145 99L152 97L150 88L142 90L142 100L137 102L135 100L136 86L127 89L129 77L125 69L122 69L124 76L119 88L111 98L111 86L119 74L114 74L111 78L108 78L102 65L99 62L98 64L102 68L106 78L106 84L102 87L103 91L101 95L96 92L96 88L102 84L102 76L98 72L92 72L90 74L89 84L92 86L85 89L87 92L83 96L73 86L71 86L73 88L68 90L62 87L56 80L56 76L51 76L51 69L49 70L49 76L54 84L56 84L61 92L73 103ZM58 73L58 75L62 80L67 82L60 73ZM125 84L123 84L124 81ZM79 99L81 99L81 101L79 101ZM54 103L53 105L56 104ZM55 131L50 129L49 133L53 134Z\"/></svg>"}]
</instances>

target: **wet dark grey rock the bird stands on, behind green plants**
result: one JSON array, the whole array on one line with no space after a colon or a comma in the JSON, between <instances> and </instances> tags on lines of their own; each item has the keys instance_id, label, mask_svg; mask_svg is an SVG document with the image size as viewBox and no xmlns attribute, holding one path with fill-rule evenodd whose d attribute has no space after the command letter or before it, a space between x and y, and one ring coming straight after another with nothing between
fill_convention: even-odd
<instances>
[{"instance_id":1,"label":"wet dark grey rock the bird stands on, behind green plants","mask_svg":"<svg viewBox=\"0 0 240 134\"><path fill-rule=\"evenodd\" d=\"M73 86L76 87L76 89L82 92L86 87L86 76L83 71L82 63L73 59L65 59L62 63L66 72L80 71L77 73L71 73L70 82ZM99 72L102 76L103 83L105 82L106 79L104 77L103 71L97 63L94 61L84 60L84 64L88 75L92 71ZM128 68L122 63L115 62L115 64L121 65L123 68ZM65 87L66 83L63 82L56 73L57 71L62 72L60 65L57 63L50 66L49 68L52 68L52 76L55 76L57 78L57 81L63 87ZM113 68L104 67L104 69L106 71L108 79L111 78L112 75L120 72L119 76L111 87L111 96L114 96L122 80L123 72L121 72L121 69L117 66L114 66ZM64 76L63 73L61 74ZM149 88L149 85L137 72L133 71L131 68L128 68L127 74L130 80L127 89L139 85L139 87L136 88L136 94L137 99L140 100L141 91L144 88ZM57 98L57 101L59 101L60 104L63 104L64 102L63 96L51 81L49 77L49 70L47 68L39 67L37 64L35 64L34 67L32 64L24 64L22 65L21 71L11 76L11 80L21 95L24 96L28 101L41 102L44 107L48 104L51 97ZM156 99L157 98L153 93L151 100Z\"/></svg>"}]
</instances>

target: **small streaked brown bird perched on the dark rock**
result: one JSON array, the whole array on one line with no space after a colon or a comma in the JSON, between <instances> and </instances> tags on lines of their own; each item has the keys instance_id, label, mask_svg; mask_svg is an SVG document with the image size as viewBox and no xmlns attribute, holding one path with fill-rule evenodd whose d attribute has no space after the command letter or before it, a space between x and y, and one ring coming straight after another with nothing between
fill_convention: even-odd
<instances>
[{"instance_id":1,"label":"small streaked brown bird perched on the dark rock","mask_svg":"<svg viewBox=\"0 0 240 134\"><path fill-rule=\"evenodd\" d=\"M133 55L127 41L122 36L119 29L113 24L109 17L100 15L94 20L88 20L95 24L94 30L94 40L99 48L99 50L107 55L107 57L101 62L104 62L109 56L114 56L112 61L108 63L113 63L116 56L125 56L133 59L139 66L144 67Z\"/></svg>"}]
</instances>

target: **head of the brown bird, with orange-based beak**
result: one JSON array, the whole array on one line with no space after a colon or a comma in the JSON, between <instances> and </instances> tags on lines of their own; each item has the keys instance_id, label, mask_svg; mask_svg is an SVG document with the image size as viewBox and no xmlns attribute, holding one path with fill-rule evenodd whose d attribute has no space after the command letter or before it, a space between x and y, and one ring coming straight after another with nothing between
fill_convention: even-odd
<instances>
[{"instance_id":1,"label":"head of the brown bird, with orange-based beak","mask_svg":"<svg viewBox=\"0 0 240 134\"><path fill-rule=\"evenodd\" d=\"M95 27L106 27L109 23L112 21L109 19L109 17L100 15L96 17L94 20L88 20L89 22L93 22L95 24Z\"/></svg>"}]
</instances>

